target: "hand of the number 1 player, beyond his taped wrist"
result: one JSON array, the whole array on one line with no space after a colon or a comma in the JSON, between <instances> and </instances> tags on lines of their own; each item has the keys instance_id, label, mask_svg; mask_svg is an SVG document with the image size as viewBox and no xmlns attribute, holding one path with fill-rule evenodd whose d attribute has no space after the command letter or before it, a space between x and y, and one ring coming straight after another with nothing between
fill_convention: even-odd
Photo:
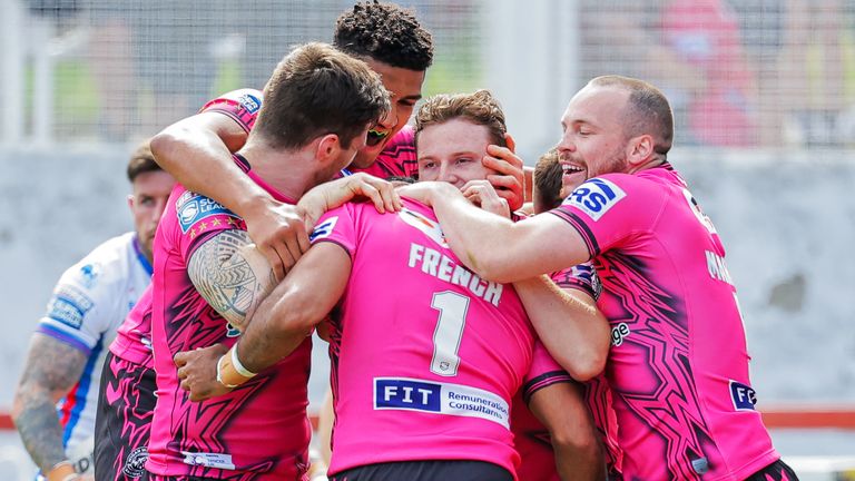
<instances>
[{"instance_id":1,"label":"hand of the number 1 player, beyond his taped wrist","mask_svg":"<svg viewBox=\"0 0 855 481\"><path fill-rule=\"evenodd\" d=\"M181 389L190 393L190 401L203 401L232 391L217 381L217 362L227 351L225 345L214 344L175 355Z\"/></svg>"}]
</instances>

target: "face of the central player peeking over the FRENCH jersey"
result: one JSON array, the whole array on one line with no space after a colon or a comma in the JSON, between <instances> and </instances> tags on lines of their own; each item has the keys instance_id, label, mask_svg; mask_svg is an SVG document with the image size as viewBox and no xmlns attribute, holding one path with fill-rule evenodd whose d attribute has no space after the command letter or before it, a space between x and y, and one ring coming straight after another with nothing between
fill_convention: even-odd
<instances>
[{"instance_id":1,"label":"face of the central player peeking over the FRENCH jersey","mask_svg":"<svg viewBox=\"0 0 855 481\"><path fill-rule=\"evenodd\" d=\"M419 180L440 180L463 187L495 171L481 159L493 144L487 127L453 119L433 124L419 132Z\"/></svg>"}]
</instances>

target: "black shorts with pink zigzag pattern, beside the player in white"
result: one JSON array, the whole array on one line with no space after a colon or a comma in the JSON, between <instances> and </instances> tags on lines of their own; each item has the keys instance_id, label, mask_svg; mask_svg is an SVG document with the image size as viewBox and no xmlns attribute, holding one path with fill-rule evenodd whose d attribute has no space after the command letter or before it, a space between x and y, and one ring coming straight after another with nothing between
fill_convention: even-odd
<instances>
[{"instance_id":1,"label":"black shorts with pink zigzag pattern, beside the player in white","mask_svg":"<svg viewBox=\"0 0 855 481\"><path fill-rule=\"evenodd\" d=\"M142 479L156 389L154 370L107 354L95 418L96 481Z\"/></svg>"}]
</instances>

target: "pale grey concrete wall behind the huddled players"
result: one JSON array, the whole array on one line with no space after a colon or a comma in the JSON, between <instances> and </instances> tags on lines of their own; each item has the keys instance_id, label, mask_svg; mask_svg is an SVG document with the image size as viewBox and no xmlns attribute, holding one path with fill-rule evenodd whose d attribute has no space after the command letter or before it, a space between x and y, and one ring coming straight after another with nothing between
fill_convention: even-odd
<instances>
[{"instance_id":1,"label":"pale grey concrete wall behind the huddled players","mask_svg":"<svg viewBox=\"0 0 855 481\"><path fill-rule=\"evenodd\" d=\"M131 228L127 153L0 153L0 411L11 405L30 333L58 276L107 237ZM728 248L760 405L855 402L852 154L817 160L684 150L671 160ZM324 356L316 354L315 393L325 372Z\"/></svg>"}]
</instances>

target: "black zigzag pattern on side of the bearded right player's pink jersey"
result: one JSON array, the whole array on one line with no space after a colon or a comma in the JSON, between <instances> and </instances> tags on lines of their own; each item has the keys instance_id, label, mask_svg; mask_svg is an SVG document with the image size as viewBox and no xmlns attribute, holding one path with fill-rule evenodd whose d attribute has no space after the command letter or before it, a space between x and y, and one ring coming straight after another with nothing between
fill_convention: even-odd
<instances>
[{"instance_id":1,"label":"black zigzag pattern on side of the bearded right player's pink jersey","mask_svg":"<svg viewBox=\"0 0 855 481\"><path fill-rule=\"evenodd\" d=\"M655 380L649 390L637 392L618 391L611 383L613 395L621 396L651 435L662 442L660 453L622 446L625 457L662 455L671 479L700 480L690 460L709 459L711 452L719 457L698 401L689 362L688 318L681 302L652 284L637 258L607 253L598 258L597 271L603 291L617 296L625 311L622 318L610 322L625 322L631 332L620 349L646 353L649 376Z\"/></svg>"}]
</instances>

